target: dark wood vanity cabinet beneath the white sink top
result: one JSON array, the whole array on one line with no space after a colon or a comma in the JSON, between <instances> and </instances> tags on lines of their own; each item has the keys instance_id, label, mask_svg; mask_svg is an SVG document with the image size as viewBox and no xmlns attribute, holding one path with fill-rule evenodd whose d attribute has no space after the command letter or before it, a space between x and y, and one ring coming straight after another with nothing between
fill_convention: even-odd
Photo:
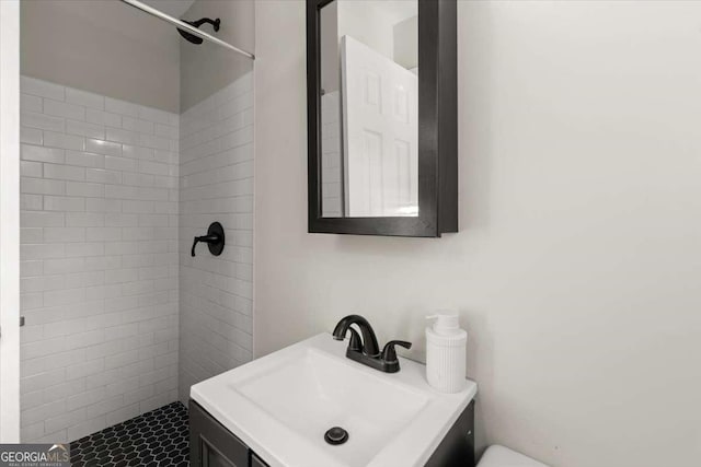
<instances>
[{"instance_id":1,"label":"dark wood vanity cabinet beneath the white sink top","mask_svg":"<svg viewBox=\"0 0 701 467\"><path fill-rule=\"evenodd\" d=\"M267 467L253 451L189 401L189 464L192 467ZM474 400L462 411L426 467L474 467Z\"/></svg>"}]
</instances>

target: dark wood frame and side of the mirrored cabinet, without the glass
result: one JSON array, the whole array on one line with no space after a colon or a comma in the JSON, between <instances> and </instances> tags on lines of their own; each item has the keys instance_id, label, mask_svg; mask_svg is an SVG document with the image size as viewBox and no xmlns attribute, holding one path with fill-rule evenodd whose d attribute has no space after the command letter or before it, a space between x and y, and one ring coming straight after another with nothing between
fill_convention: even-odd
<instances>
[{"instance_id":1,"label":"dark wood frame and side of the mirrored cabinet, without the glass","mask_svg":"<svg viewBox=\"0 0 701 467\"><path fill-rule=\"evenodd\" d=\"M422 237L458 232L457 0L417 0L418 217L322 217L320 10L332 1L307 0L309 232Z\"/></svg>"}]
</instances>

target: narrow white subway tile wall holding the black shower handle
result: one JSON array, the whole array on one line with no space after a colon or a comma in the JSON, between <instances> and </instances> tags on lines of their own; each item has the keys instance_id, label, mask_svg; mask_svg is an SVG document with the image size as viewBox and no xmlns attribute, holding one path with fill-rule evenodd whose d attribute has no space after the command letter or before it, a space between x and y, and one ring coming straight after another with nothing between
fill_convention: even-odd
<instances>
[{"instance_id":1,"label":"narrow white subway tile wall holding the black shower handle","mask_svg":"<svg viewBox=\"0 0 701 467\"><path fill-rule=\"evenodd\" d=\"M252 73L181 114L180 398L189 386L252 358ZM164 129L165 130L165 129ZM195 235L225 227L226 247L189 256Z\"/></svg>"}]
</instances>

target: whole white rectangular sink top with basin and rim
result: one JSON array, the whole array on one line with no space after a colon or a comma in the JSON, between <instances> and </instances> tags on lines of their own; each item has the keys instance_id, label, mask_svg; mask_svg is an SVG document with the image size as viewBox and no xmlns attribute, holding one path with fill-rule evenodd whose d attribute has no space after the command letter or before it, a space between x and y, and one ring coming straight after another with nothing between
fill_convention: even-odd
<instances>
[{"instance_id":1,"label":"whole white rectangular sink top with basin and rim","mask_svg":"<svg viewBox=\"0 0 701 467\"><path fill-rule=\"evenodd\" d=\"M202 382L191 397L271 467L423 466L476 394L441 394L424 365L387 374L322 334ZM332 427L348 441L331 445Z\"/></svg>"}]
</instances>

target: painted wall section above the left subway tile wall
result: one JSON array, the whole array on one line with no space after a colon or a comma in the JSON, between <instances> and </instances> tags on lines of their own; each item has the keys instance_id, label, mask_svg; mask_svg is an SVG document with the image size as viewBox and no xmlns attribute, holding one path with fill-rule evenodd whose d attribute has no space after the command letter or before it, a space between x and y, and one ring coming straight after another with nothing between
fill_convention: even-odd
<instances>
[{"instance_id":1,"label":"painted wall section above the left subway tile wall","mask_svg":"<svg viewBox=\"0 0 701 467\"><path fill-rule=\"evenodd\" d=\"M22 73L177 112L175 27L120 1L22 1Z\"/></svg>"}]
</instances>

